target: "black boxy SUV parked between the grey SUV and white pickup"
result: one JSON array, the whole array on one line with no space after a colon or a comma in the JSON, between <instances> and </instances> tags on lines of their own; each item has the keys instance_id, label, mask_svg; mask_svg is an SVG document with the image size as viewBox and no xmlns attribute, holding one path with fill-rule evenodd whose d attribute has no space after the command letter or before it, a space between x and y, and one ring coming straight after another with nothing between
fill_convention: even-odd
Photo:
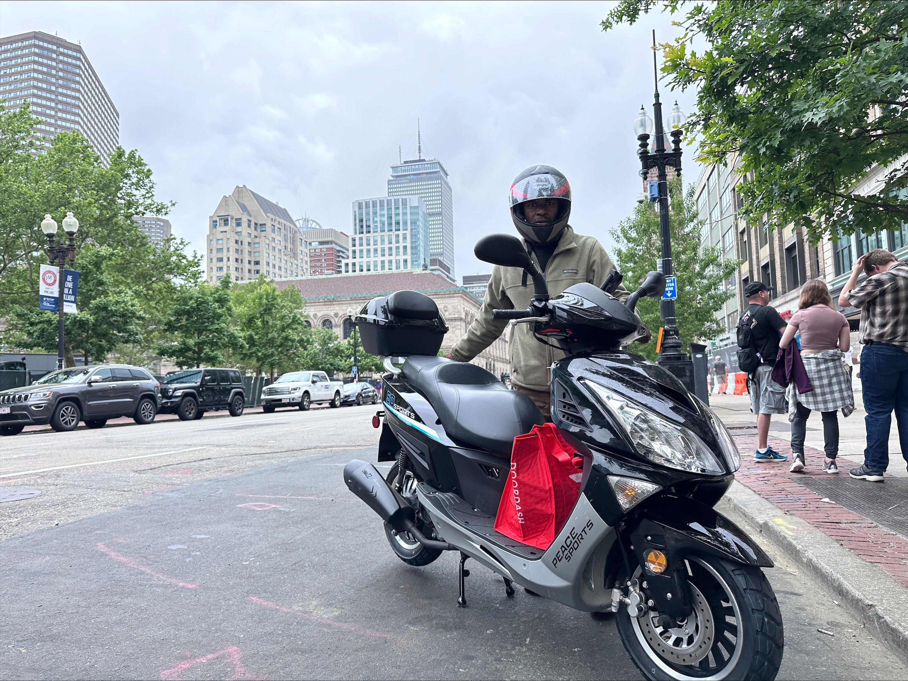
<instances>
[{"instance_id":1,"label":"black boxy SUV parked between the grey SUV and white pickup","mask_svg":"<svg viewBox=\"0 0 908 681\"><path fill-rule=\"evenodd\" d=\"M161 382L161 413L175 413L181 421L222 409L240 416L245 408L246 389L236 369L173 371Z\"/></svg>"}]
</instances>

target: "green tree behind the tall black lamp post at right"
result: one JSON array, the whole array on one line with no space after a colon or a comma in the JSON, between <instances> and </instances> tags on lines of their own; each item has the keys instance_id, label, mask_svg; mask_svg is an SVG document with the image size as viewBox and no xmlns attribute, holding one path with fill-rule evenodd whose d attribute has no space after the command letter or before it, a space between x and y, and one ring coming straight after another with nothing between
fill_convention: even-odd
<instances>
[{"instance_id":1,"label":"green tree behind the tall black lamp post at right","mask_svg":"<svg viewBox=\"0 0 908 681\"><path fill-rule=\"evenodd\" d=\"M733 291L723 290L723 282L735 273L740 261L734 258L723 260L718 248L701 247L703 220L696 215L694 187L687 188L686 196L682 196L681 191L680 179L669 182L668 219L672 237L672 267L678 291L676 316L681 342L687 347L691 341L714 338L722 333L723 327L716 321L713 312L735 296ZM625 276L625 287L633 290L646 277L646 272L656 269L656 257L661 252L656 204L647 202L637 206L634 214L621 220L610 233L617 243L614 254L618 271ZM651 254L651 257L641 257L644 253ZM641 298L637 311L655 340L658 328L662 326L659 301ZM656 359L655 342L638 344L634 350Z\"/></svg>"}]
</instances>

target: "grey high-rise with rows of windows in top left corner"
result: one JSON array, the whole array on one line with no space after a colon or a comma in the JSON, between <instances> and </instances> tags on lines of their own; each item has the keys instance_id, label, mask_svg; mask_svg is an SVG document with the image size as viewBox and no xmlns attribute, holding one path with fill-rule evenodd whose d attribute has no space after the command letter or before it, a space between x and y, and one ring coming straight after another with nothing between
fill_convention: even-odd
<instances>
[{"instance_id":1,"label":"grey high-rise with rows of windows in top left corner","mask_svg":"<svg viewBox=\"0 0 908 681\"><path fill-rule=\"evenodd\" d=\"M104 165L120 143L120 114L82 45L32 31L0 38L0 97L8 109L29 102L50 147L57 132L80 131Z\"/></svg>"}]
</instances>

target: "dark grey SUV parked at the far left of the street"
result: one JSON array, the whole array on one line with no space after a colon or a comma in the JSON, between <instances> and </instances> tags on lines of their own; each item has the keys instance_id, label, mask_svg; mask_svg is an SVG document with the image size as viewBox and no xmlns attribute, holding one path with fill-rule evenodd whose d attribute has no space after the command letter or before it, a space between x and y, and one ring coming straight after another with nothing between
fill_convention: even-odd
<instances>
[{"instance_id":1,"label":"dark grey SUV parked at the far left of the street","mask_svg":"<svg viewBox=\"0 0 908 681\"><path fill-rule=\"evenodd\" d=\"M15 435L26 425L46 423L55 431L72 431L80 421L101 428L118 416L152 423L159 392L158 382L141 366L58 369L31 385L0 393L0 434Z\"/></svg>"}]
</instances>

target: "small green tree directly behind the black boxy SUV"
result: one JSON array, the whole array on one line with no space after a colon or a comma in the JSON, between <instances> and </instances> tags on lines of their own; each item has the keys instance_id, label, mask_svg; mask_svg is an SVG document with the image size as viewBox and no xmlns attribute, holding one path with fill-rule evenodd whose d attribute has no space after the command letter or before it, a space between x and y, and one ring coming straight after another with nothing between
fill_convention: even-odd
<instances>
[{"instance_id":1,"label":"small green tree directly behind the black boxy SUV","mask_svg":"<svg viewBox=\"0 0 908 681\"><path fill-rule=\"evenodd\" d=\"M221 365L227 349L241 343L232 328L230 277L217 286L198 282L177 289L163 331L170 338L158 352L177 366Z\"/></svg>"}]
</instances>

